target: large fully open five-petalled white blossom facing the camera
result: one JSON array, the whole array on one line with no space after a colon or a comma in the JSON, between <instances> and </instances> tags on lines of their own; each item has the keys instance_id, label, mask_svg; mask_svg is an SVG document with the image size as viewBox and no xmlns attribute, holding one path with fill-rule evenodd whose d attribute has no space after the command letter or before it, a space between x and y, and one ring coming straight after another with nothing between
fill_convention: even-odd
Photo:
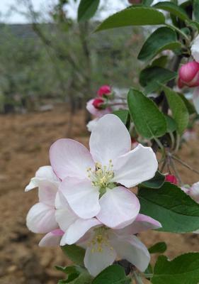
<instances>
[{"instance_id":1,"label":"large fully open five-petalled white blossom facing the camera","mask_svg":"<svg viewBox=\"0 0 199 284\"><path fill-rule=\"evenodd\" d=\"M62 180L59 188L78 217L96 217L111 228L127 226L140 211L127 188L154 177L156 155L141 144L131 151L130 134L114 114L98 120L89 144L90 152L71 139L51 146L50 162Z\"/></svg>"}]
</instances>

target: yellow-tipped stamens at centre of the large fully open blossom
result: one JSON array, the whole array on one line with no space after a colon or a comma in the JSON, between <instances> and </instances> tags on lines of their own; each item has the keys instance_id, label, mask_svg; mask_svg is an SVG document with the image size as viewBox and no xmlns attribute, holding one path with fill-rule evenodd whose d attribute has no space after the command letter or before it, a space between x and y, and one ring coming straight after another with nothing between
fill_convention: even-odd
<instances>
[{"instance_id":1,"label":"yellow-tipped stamens at centre of the large fully open blossom","mask_svg":"<svg viewBox=\"0 0 199 284\"><path fill-rule=\"evenodd\" d=\"M88 168L87 172L93 186L99 187L100 190L106 189L106 187L109 187L114 177L112 160L109 160L108 167L101 165L101 163L96 163L95 170Z\"/></svg>"}]
</instances>

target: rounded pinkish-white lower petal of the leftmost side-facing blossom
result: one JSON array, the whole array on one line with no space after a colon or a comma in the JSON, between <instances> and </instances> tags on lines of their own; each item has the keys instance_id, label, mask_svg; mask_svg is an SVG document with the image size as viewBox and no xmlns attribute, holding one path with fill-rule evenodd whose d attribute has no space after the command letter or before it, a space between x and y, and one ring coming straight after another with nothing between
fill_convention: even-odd
<instances>
[{"instance_id":1,"label":"rounded pinkish-white lower petal of the leftmost side-facing blossom","mask_svg":"<svg viewBox=\"0 0 199 284\"><path fill-rule=\"evenodd\" d=\"M41 202L33 205L26 217L26 224L34 233L46 234L57 229L55 209Z\"/></svg>"}]
</instances>

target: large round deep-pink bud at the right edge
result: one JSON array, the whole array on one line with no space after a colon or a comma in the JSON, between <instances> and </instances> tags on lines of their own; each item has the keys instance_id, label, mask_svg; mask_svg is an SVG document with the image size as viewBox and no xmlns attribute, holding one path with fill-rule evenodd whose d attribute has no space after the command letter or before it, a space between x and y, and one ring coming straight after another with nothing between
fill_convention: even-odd
<instances>
[{"instance_id":1,"label":"large round deep-pink bud at the right edge","mask_svg":"<svg viewBox=\"0 0 199 284\"><path fill-rule=\"evenodd\" d=\"M199 86L199 63L191 61L182 65L179 70L178 87L182 88Z\"/></svg>"}]
</instances>

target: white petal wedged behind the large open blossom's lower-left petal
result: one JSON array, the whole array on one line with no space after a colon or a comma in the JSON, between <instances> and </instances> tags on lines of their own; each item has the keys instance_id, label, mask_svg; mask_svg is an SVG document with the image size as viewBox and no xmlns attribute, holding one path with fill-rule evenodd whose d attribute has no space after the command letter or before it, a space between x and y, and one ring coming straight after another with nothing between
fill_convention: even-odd
<instances>
[{"instance_id":1,"label":"white petal wedged behind the large open blossom's lower-left petal","mask_svg":"<svg viewBox=\"0 0 199 284\"><path fill-rule=\"evenodd\" d=\"M66 231L69 226L73 224L79 217L77 217L76 214L69 207L69 204L65 199L64 195L62 195L62 192L57 192L55 207L55 219L59 224L59 227L63 231Z\"/></svg>"}]
</instances>

